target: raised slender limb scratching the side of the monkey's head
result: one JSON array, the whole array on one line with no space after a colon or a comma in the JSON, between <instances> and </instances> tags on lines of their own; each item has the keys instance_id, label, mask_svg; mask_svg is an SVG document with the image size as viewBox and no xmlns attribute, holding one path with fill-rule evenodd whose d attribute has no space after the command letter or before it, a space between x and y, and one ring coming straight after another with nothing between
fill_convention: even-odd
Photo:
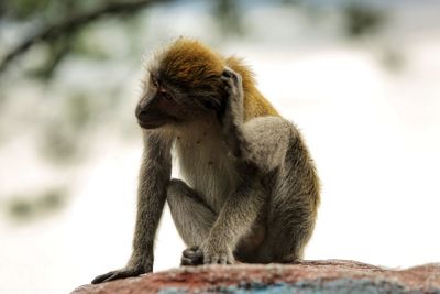
<instances>
[{"instance_id":1,"label":"raised slender limb scratching the side of the monkey's head","mask_svg":"<svg viewBox=\"0 0 440 294\"><path fill-rule=\"evenodd\" d=\"M232 153L242 157L246 150L243 126L243 85L240 74L226 68L221 75L224 83L224 113L220 117L224 139Z\"/></svg>"}]
</instances>

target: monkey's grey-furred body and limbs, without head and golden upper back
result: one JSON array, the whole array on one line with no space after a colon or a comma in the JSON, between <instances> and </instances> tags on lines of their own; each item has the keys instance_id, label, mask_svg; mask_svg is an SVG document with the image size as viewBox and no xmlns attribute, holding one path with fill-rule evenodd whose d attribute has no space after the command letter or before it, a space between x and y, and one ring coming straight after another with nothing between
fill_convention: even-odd
<instances>
[{"instance_id":1,"label":"monkey's grey-furred body and limbs, without head and golden upper back","mask_svg":"<svg viewBox=\"0 0 440 294\"><path fill-rule=\"evenodd\" d=\"M152 271L153 242L165 199L188 249L184 265L295 262L315 227L319 181L294 124L280 117L243 121L240 75L227 69L220 123L145 131L133 254L127 268L95 283ZM170 179L175 146L183 179Z\"/></svg>"}]
</instances>

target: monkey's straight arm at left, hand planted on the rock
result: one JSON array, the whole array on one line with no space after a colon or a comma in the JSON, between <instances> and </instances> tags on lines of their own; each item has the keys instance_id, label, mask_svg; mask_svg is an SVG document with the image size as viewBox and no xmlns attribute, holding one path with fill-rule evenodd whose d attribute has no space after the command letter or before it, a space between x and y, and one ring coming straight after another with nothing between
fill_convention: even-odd
<instances>
[{"instance_id":1,"label":"monkey's straight arm at left, hand planted on the rock","mask_svg":"<svg viewBox=\"0 0 440 294\"><path fill-rule=\"evenodd\" d=\"M125 268L97 276L91 283L136 276L153 271L153 244L170 179L170 138L144 131L144 154L138 190L133 252Z\"/></svg>"}]
</instances>

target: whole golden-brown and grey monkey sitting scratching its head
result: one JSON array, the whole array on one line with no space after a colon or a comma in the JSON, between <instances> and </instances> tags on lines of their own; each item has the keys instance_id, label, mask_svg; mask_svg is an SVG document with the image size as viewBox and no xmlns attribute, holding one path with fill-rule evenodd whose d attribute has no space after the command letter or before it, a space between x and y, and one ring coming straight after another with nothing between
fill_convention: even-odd
<instances>
[{"instance_id":1,"label":"whole golden-brown and grey monkey sitting scratching its head","mask_svg":"<svg viewBox=\"0 0 440 294\"><path fill-rule=\"evenodd\" d=\"M147 66L135 116L144 151L133 251L94 284L153 271L165 203L187 247L182 265L302 259L320 202L316 164L242 59L175 40Z\"/></svg>"}]
</instances>

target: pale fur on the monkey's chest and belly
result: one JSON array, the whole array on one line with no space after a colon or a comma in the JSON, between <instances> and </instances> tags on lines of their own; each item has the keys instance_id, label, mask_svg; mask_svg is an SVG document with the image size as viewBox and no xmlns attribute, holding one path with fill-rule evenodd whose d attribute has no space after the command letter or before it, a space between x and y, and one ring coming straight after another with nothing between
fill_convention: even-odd
<instances>
[{"instance_id":1,"label":"pale fur on the monkey's chest and belly","mask_svg":"<svg viewBox=\"0 0 440 294\"><path fill-rule=\"evenodd\" d=\"M220 132L215 123L188 128L188 131L178 132L175 144L183 179L216 213L238 183L233 161Z\"/></svg>"}]
</instances>

